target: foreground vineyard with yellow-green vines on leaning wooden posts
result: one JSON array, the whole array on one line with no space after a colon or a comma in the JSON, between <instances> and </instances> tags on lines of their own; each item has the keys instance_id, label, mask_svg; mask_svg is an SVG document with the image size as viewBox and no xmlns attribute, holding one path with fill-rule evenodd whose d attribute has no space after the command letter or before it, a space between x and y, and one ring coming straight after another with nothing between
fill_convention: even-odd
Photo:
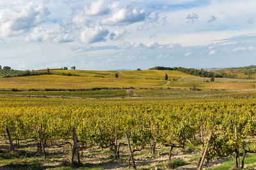
<instances>
[{"instance_id":1,"label":"foreground vineyard with yellow-green vines on leaning wooden posts","mask_svg":"<svg viewBox=\"0 0 256 170\"><path fill-rule=\"evenodd\" d=\"M4 164L8 150L32 169L256 167L255 99L1 97L0 106L5 168L20 168Z\"/></svg>"}]
</instances>

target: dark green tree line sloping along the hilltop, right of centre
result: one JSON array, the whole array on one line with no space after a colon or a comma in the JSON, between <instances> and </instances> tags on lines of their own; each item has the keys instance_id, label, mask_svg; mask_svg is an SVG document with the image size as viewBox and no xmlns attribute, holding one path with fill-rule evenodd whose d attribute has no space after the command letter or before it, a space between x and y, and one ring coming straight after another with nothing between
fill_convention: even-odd
<instances>
[{"instance_id":1,"label":"dark green tree line sloping along the hilltop, right of centre","mask_svg":"<svg viewBox=\"0 0 256 170\"><path fill-rule=\"evenodd\" d=\"M187 73L187 74L191 74L191 75L195 75L195 76L201 76L201 77L208 77L208 78L211 78L211 77L222 78L223 77L223 75L221 75L221 74L204 71L204 69L187 69L184 67L161 67L161 66L153 67L150 69L177 70L177 71L181 71L183 73Z\"/></svg>"}]
</instances>

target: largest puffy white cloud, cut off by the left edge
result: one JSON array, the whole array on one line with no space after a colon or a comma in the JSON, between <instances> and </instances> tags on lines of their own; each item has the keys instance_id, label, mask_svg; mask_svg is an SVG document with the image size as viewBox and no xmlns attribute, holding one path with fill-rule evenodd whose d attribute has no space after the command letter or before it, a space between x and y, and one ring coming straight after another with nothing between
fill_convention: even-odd
<instances>
[{"instance_id":1,"label":"largest puffy white cloud, cut off by the left edge","mask_svg":"<svg viewBox=\"0 0 256 170\"><path fill-rule=\"evenodd\" d=\"M40 24L42 17L49 15L49 11L42 4L34 6L33 3L14 3L4 7L0 8L0 36L28 32Z\"/></svg>"}]
</instances>

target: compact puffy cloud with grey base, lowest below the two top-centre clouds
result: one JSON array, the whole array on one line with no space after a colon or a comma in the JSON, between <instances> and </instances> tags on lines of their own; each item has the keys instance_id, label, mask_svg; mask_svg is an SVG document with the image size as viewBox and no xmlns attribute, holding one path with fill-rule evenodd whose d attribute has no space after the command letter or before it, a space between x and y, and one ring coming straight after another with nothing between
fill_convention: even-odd
<instances>
[{"instance_id":1,"label":"compact puffy cloud with grey base, lowest below the two top-centre clouds","mask_svg":"<svg viewBox=\"0 0 256 170\"><path fill-rule=\"evenodd\" d=\"M81 32L81 42L97 43L100 41L106 41L108 32L108 29L104 29L103 27L88 28L86 31Z\"/></svg>"}]
</instances>

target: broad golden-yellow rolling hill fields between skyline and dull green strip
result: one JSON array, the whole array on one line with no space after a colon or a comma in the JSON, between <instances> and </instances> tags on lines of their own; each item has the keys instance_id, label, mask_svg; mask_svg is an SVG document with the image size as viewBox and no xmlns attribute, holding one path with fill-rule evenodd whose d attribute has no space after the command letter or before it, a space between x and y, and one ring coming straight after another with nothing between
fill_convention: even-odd
<instances>
[{"instance_id":1,"label":"broad golden-yellow rolling hill fields between skyline and dull green strip","mask_svg":"<svg viewBox=\"0 0 256 170\"><path fill-rule=\"evenodd\" d=\"M29 90L29 89L93 89L93 88L173 88L244 90L255 89L255 80L241 80L231 78L216 78L214 82L205 82L209 78L201 78L180 71L77 71L52 70L51 73L37 76L22 76L0 78L0 89ZM65 75L62 75L65 73ZM68 73L79 76L67 76ZM118 78L115 78L115 74ZM168 80L164 75L168 74ZM203 80L205 80L203 82Z\"/></svg>"}]
</instances>

